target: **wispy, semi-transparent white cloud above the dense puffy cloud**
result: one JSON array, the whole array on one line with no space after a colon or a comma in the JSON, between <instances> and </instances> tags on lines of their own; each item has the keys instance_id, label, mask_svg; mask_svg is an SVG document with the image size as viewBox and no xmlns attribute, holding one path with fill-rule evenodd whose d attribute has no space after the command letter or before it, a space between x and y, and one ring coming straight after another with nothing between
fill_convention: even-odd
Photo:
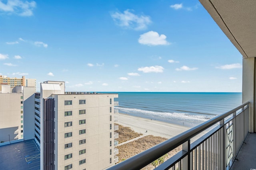
<instances>
[{"instance_id":1,"label":"wispy, semi-transparent white cloud above the dense puffy cloud","mask_svg":"<svg viewBox=\"0 0 256 170\"><path fill-rule=\"evenodd\" d=\"M152 22L149 16L138 16L130 11L131 10L126 10L124 13L115 12L111 14L111 17L119 26L135 30L146 29Z\"/></svg>"}]
</instances>

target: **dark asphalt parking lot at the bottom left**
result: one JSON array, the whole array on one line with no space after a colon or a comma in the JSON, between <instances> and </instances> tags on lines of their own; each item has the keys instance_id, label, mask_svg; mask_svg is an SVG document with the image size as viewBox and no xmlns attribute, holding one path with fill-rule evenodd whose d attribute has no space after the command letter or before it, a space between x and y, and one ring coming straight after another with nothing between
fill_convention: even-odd
<instances>
[{"instance_id":1,"label":"dark asphalt parking lot at the bottom left","mask_svg":"<svg viewBox=\"0 0 256 170\"><path fill-rule=\"evenodd\" d=\"M1 170L40 170L40 149L33 139L0 147Z\"/></svg>"}]
</instances>

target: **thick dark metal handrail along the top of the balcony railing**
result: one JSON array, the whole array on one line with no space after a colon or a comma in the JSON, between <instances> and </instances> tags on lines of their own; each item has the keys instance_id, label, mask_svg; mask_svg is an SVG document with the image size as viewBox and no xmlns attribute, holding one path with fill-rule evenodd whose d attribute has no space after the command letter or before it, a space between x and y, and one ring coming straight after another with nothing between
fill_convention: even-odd
<instances>
[{"instance_id":1,"label":"thick dark metal handrail along the top of the balcony railing","mask_svg":"<svg viewBox=\"0 0 256 170\"><path fill-rule=\"evenodd\" d=\"M232 113L238 111L242 107L248 105L249 102L246 102L244 104L241 104L240 106L227 111L223 113L222 115L218 115L196 127L193 127L191 129L188 129L187 131L184 131L183 133L180 133L179 135L176 135L175 137L172 137L171 139L168 139L150 149L147 149L139 154L136 154L135 156L132 156L131 158L128 158L127 160L124 160L115 166L112 166L108 168L108 170L138 170L143 168L144 166L150 164L154 160L160 158L164 154L170 152L171 150L175 149L176 147L182 145L186 141L190 140L192 137L195 137L202 131L206 130L207 128L211 127L215 123L223 120L224 118L228 117Z\"/></svg>"}]
</instances>

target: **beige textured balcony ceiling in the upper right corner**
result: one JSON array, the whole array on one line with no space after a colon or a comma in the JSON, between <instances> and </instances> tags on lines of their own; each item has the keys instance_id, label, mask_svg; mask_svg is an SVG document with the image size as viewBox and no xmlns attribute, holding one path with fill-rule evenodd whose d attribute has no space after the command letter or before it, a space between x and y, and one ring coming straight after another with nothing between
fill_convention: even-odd
<instances>
[{"instance_id":1,"label":"beige textured balcony ceiling in the upper right corner","mask_svg":"<svg viewBox=\"0 0 256 170\"><path fill-rule=\"evenodd\" d=\"M256 0L199 0L244 58L256 57Z\"/></svg>"}]
</instances>

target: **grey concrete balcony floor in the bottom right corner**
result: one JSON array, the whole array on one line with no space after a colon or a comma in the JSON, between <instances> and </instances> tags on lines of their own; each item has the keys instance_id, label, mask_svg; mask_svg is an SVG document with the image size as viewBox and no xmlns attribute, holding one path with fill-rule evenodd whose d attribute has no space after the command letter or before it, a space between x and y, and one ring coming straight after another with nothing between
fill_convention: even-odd
<instances>
[{"instance_id":1,"label":"grey concrete balcony floor in the bottom right corner","mask_svg":"<svg viewBox=\"0 0 256 170\"><path fill-rule=\"evenodd\" d=\"M256 169L256 133L249 133L231 170Z\"/></svg>"}]
</instances>

